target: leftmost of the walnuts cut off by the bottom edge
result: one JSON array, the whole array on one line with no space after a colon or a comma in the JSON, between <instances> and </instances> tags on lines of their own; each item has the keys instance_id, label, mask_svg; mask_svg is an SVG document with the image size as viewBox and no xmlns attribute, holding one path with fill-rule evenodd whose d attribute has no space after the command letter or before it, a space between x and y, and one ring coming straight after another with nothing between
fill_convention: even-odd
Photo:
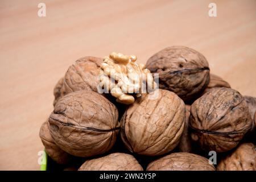
<instances>
[{"instance_id":1,"label":"leftmost of the walnuts cut off by the bottom edge","mask_svg":"<svg viewBox=\"0 0 256 182\"><path fill-rule=\"evenodd\" d=\"M86 160L79 171L143 171L134 156L114 153L102 158Z\"/></svg>"}]
</instances>

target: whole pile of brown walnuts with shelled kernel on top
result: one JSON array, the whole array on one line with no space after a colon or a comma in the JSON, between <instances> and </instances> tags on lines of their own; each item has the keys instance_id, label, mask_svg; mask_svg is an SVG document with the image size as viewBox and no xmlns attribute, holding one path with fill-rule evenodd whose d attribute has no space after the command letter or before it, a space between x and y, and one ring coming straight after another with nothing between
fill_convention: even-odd
<instances>
[{"instance_id":1,"label":"whole pile of brown walnuts with shelled kernel on top","mask_svg":"<svg viewBox=\"0 0 256 182\"><path fill-rule=\"evenodd\" d=\"M194 49L83 57L54 96L40 138L59 169L256 170L256 98Z\"/></svg>"}]
</instances>

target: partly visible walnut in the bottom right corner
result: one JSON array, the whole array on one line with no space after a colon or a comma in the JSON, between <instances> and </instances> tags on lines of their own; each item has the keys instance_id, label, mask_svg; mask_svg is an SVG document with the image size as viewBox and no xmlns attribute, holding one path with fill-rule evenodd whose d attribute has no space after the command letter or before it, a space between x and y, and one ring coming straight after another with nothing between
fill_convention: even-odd
<instances>
[{"instance_id":1,"label":"partly visible walnut in the bottom right corner","mask_svg":"<svg viewBox=\"0 0 256 182\"><path fill-rule=\"evenodd\" d=\"M242 143L218 163L218 171L256 171L256 146Z\"/></svg>"}]
</instances>

